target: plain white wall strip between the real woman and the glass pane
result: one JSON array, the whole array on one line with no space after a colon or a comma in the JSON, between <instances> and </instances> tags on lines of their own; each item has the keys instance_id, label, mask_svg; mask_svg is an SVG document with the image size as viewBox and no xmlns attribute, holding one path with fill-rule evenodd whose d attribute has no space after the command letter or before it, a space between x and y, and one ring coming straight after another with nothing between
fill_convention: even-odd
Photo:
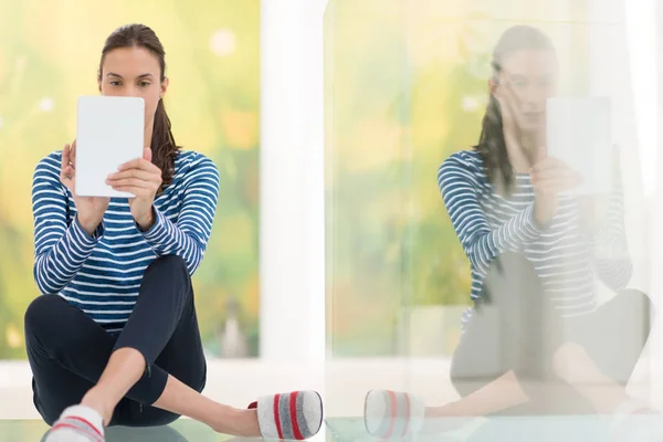
<instances>
[{"instance_id":1,"label":"plain white wall strip between the real woman and the glass pane","mask_svg":"<svg viewBox=\"0 0 663 442\"><path fill-rule=\"evenodd\" d=\"M261 4L260 354L266 361L324 364L326 3Z\"/></svg>"}]
</instances>

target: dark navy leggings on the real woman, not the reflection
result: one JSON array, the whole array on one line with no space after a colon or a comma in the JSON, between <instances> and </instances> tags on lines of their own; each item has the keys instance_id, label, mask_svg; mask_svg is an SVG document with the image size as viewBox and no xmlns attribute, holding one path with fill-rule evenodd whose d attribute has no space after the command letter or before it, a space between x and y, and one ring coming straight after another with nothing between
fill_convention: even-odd
<instances>
[{"instance_id":1,"label":"dark navy leggings on the real woman, not the reflection","mask_svg":"<svg viewBox=\"0 0 663 442\"><path fill-rule=\"evenodd\" d=\"M145 357L144 376L115 408L110 425L165 425L178 414L151 407L168 375L202 391L207 365L185 261L161 256L146 270L139 296L116 338L57 295L35 298L25 312L25 344L33 401L52 425L98 381L110 354L134 348Z\"/></svg>"}]
</instances>

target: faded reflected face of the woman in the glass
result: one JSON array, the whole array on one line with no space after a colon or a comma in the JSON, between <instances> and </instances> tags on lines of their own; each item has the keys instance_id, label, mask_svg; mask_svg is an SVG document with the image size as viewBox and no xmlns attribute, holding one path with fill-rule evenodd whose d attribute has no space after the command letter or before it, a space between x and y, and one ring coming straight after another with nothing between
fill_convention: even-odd
<instances>
[{"instance_id":1,"label":"faded reflected face of the woman in the glass","mask_svg":"<svg viewBox=\"0 0 663 442\"><path fill-rule=\"evenodd\" d=\"M497 88L509 88L509 108L522 131L545 128L546 102L557 93L557 75L552 51L519 50L503 61Z\"/></svg>"}]
</instances>

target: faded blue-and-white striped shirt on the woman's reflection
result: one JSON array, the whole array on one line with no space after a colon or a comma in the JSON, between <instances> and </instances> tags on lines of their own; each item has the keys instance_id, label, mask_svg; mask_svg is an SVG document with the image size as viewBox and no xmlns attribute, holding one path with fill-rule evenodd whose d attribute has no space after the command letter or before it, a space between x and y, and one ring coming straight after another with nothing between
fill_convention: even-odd
<instances>
[{"instance_id":1,"label":"faded blue-and-white striped shirt on the woman's reflection","mask_svg":"<svg viewBox=\"0 0 663 442\"><path fill-rule=\"evenodd\" d=\"M471 298L481 298L483 280L499 254L520 253L533 264L546 294L565 317L597 307L596 276L618 291L632 273L625 229L623 191L612 192L600 228L588 235L580 228L577 199L559 197L557 214L541 229L534 219L529 176L516 175L509 198L494 191L474 150L451 155L438 170L438 186L472 272ZM473 314L470 308L465 323Z\"/></svg>"}]
</instances>

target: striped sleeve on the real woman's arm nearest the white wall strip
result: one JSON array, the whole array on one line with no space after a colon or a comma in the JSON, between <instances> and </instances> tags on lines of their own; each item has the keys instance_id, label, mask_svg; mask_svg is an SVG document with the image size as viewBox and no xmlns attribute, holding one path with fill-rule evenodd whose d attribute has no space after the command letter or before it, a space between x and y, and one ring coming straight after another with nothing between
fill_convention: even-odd
<instances>
[{"instance_id":1,"label":"striped sleeve on the real woman's arm nearest the white wall strip","mask_svg":"<svg viewBox=\"0 0 663 442\"><path fill-rule=\"evenodd\" d=\"M207 249L219 199L220 177L217 166L197 154L183 179L183 202L177 223L156 207L155 224L143 236L157 255L175 254L185 260L193 275Z\"/></svg>"}]
</instances>

